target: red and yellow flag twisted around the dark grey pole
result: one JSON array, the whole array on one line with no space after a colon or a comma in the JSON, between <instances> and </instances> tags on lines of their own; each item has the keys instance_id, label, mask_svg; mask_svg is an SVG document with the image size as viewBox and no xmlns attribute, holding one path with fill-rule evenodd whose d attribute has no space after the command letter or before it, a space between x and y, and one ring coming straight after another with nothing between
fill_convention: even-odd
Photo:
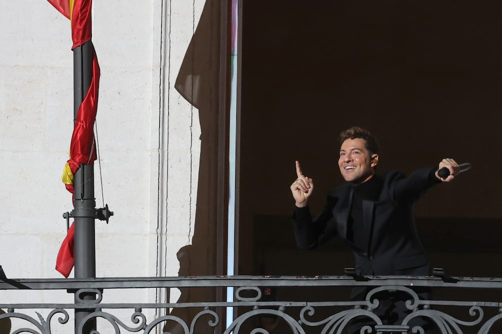
<instances>
[{"instance_id":1,"label":"red and yellow flag twisted around the dark grey pole","mask_svg":"<svg viewBox=\"0 0 502 334\"><path fill-rule=\"evenodd\" d=\"M72 50L91 43L92 0L48 0L61 14L71 22ZM78 108L73 135L70 143L70 159L65 165L62 180L68 191L73 193L73 175L81 164L92 165L96 160L93 126L96 120L99 90L99 64L94 47L92 60L92 80L82 103ZM56 270L68 277L75 264L73 257L73 224L68 231L56 259Z\"/></svg>"}]
</instances>

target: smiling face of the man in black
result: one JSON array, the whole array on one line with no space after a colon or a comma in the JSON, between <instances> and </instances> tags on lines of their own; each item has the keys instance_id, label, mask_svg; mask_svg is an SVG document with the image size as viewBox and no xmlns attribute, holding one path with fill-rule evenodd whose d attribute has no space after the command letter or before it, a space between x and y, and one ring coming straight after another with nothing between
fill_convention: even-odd
<instances>
[{"instance_id":1,"label":"smiling face of the man in black","mask_svg":"<svg viewBox=\"0 0 502 334\"><path fill-rule=\"evenodd\" d=\"M373 158L364 146L366 141L362 138L347 139L340 147L338 167L347 182L360 184L369 180L375 173L374 166L378 162L378 155ZM373 161L371 161L374 159Z\"/></svg>"}]
</instances>

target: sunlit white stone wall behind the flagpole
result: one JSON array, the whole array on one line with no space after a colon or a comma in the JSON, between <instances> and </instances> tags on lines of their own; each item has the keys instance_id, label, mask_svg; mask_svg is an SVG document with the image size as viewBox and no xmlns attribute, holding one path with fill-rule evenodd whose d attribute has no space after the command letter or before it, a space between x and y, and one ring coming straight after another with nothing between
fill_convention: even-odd
<instances>
[{"instance_id":1,"label":"sunlit white stone wall behind the flagpole","mask_svg":"<svg viewBox=\"0 0 502 334\"><path fill-rule=\"evenodd\" d=\"M96 221L98 277L176 276L176 252L191 242L200 127L197 110L173 86L203 5L94 1L101 67L95 195L97 207L104 197L114 212L108 225ZM73 127L70 23L41 0L6 2L0 25L0 265L11 278L62 277L54 266L66 234L62 214L72 209L61 182ZM72 299L36 294L30 302ZM161 294L128 299L162 301ZM0 299L24 301L8 291Z\"/></svg>"}]
</instances>

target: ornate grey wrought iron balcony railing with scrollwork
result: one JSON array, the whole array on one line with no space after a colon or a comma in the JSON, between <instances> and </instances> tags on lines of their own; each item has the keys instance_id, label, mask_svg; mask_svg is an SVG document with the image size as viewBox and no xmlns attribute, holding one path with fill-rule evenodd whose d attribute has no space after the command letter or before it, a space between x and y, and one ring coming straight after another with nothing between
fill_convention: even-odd
<instances>
[{"instance_id":1,"label":"ornate grey wrought iron balcony railing with scrollwork","mask_svg":"<svg viewBox=\"0 0 502 334\"><path fill-rule=\"evenodd\" d=\"M364 300L350 300L350 289L366 287ZM431 288L434 298L419 299L417 290ZM128 293L106 302L109 291L179 288L187 301L176 303L121 302ZM217 289L233 288L233 301L218 301ZM119 289L119 290L116 290ZM126 290L121 290L126 289ZM188 290L187 290L188 289ZM369 323L360 333L423 333L413 319L428 319L441 333L500 333L502 278L480 277L352 277L352 276L197 276L95 279L7 279L0 290L13 296L24 290L61 290L75 293L70 303L3 303L0 323L12 320L12 333L85 332L84 323L72 324L72 310L87 310L82 320L98 321L93 333L344 333L352 319ZM144 291L144 290L141 290ZM400 323L387 323L378 312L382 291L406 295L409 314ZM81 297L93 294L93 299ZM198 300L195 298L202 297ZM25 295L23 295L23 298ZM39 297L39 296L38 296ZM479 298L478 298L479 297ZM26 298L30 298L26 295ZM181 298L183 299L183 298ZM0 300L5 302L5 300ZM222 314L233 310L230 321ZM164 310L165 313L159 312ZM33 315L30 315L33 312ZM43 313L44 315L42 315ZM119 313L119 315L117 315ZM147 314L148 313L148 314ZM123 319L127 314L128 320ZM122 318L121 318L122 316ZM104 319L104 320L103 320ZM502 322L502 321L500 321ZM73 326L72 326L73 325ZM16 326L16 328L15 328ZM18 327L19 326L19 327ZM0 326L1 327L1 326ZM56 329L56 327L58 327ZM101 329L100 329L101 328ZM106 329L104 329L106 328ZM110 329L112 328L112 329ZM101 331L102 330L102 331Z\"/></svg>"}]
</instances>

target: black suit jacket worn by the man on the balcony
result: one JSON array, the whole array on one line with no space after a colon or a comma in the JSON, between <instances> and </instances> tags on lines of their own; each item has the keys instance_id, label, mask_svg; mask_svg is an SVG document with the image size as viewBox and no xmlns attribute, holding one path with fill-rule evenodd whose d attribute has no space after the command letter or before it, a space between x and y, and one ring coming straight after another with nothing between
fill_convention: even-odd
<instances>
[{"instance_id":1,"label":"black suit jacket worn by the man on the balcony","mask_svg":"<svg viewBox=\"0 0 502 334\"><path fill-rule=\"evenodd\" d=\"M329 192L324 210L315 219L308 207L295 209L297 245L302 249L317 248L338 235L353 251L359 275L428 275L428 257L417 234L412 206L428 188L440 182L432 176L435 170L422 168L408 177L398 171L374 176L382 188L376 201L362 201L366 249L347 240L354 187L350 183Z\"/></svg>"}]
</instances>

